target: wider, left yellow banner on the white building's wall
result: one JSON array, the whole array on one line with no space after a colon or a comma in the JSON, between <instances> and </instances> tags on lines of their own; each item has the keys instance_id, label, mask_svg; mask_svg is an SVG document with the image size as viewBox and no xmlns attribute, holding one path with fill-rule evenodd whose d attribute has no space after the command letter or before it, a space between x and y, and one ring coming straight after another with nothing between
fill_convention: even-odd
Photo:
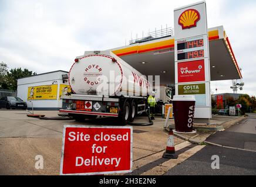
<instances>
[{"instance_id":1,"label":"wider, left yellow banner on the white building's wall","mask_svg":"<svg viewBox=\"0 0 256 187\"><path fill-rule=\"evenodd\" d=\"M28 100L57 99L58 84L28 87Z\"/></svg>"}]
</instances>

